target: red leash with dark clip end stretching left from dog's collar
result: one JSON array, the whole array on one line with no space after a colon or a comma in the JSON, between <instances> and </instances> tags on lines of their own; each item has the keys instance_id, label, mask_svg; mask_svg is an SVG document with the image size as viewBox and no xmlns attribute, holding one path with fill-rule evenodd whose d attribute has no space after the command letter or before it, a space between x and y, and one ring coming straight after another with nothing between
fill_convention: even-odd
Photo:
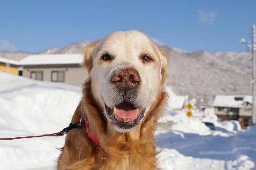
<instances>
[{"instance_id":1,"label":"red leash with dark clip end stretching left from dog's collar","mask_svg":"<svg viewBox=\"0 0 256 170\"><path fill-rule=\"evenodd\" d=\"M44 136L63 136L64 134L67 134L71 129L82 129L85 126L85 123L82 122L82 118L85 115L82 115L80 121L69 124L68 127L65 127L62 131L53 133L53 134L43 134L43 135L37 135L37 136L22 136L22 137L12 137L12 138L0 138L0 141L6 141L6 140L15 140L15 139L26 139L26 138L34 138L34 137L44 137ZM79 125L78 125L79 124Z\"/></svg>"}]
</instances>

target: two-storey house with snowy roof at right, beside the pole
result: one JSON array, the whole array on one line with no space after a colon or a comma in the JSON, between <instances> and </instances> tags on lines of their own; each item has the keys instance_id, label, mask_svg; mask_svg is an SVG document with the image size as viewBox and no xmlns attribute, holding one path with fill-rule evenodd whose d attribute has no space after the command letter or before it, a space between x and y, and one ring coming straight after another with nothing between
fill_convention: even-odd
<instances>
[{"instance_id":1,"label":"two-storey house with snowy roof at right, beside the pole","mask_svg":"<svg viewBox=\"0 0 256 170\"><path fill-rule=\"evenodd\" d=\"M217 95L212 106L220 121L238 120L242 127L252 124L252 96Z\"/></svg>"}]
</instances>

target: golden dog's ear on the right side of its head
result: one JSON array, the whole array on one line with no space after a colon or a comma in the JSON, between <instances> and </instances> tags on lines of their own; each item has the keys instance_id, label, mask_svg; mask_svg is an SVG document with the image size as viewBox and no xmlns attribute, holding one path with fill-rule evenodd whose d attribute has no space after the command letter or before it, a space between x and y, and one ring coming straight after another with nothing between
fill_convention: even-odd
<instances>
[{"instance_id":1,"label":"golden dog's ear on the right side of its head","mask_svg":"<svg viewBox=\"0 0 256 170\"><path fill-rule=\"evenodd\" d=\"M161 80L162 80L162 86L163 86L165 83L165 79L168 75L169 57L160 48L158 48L158 50L161 53L161 56L160 56L161 57L161 78L162 78Z\"/></svg>"}]
</instances>

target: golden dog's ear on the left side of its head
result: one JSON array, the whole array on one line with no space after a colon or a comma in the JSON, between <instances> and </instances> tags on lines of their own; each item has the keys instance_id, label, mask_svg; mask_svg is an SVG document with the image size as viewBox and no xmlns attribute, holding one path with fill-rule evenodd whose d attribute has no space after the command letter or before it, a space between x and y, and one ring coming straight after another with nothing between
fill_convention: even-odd
<instances>
[{"instance_id":1,"label":"golden dog's ear on the left side of its head","mask_svg":"<svg viewBox=\"0 0 256 170\"><path fill-rule=\"evenodd\" d=\"M85 66L88 70L88 73L91 72L92 69L92 54L95 46L99 43L99 41L94 41L90 45L87 45L83 50L83 62L81 65Z\"/></svg>"}]
</instances>

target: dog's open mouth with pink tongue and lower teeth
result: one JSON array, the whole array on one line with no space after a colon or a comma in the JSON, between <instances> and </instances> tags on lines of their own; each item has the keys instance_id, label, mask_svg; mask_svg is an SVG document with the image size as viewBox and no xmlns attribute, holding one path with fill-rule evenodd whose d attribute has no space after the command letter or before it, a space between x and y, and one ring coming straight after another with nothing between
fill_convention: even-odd
<instances>
[{"instance_id":1,"label":"dog's open mouth with pink tongue and lower teeth","mask_svg":"<svg viewBox=\"0 0 256 170\"><path fill-rule=\"evenodd\" d=\"M122 103L114 108L110 108L105 104L105 108L113 124L120 129L130 129L138 125L146 110L146 108L136 108L131 103Z\"/></svg>"}]
</instances>

